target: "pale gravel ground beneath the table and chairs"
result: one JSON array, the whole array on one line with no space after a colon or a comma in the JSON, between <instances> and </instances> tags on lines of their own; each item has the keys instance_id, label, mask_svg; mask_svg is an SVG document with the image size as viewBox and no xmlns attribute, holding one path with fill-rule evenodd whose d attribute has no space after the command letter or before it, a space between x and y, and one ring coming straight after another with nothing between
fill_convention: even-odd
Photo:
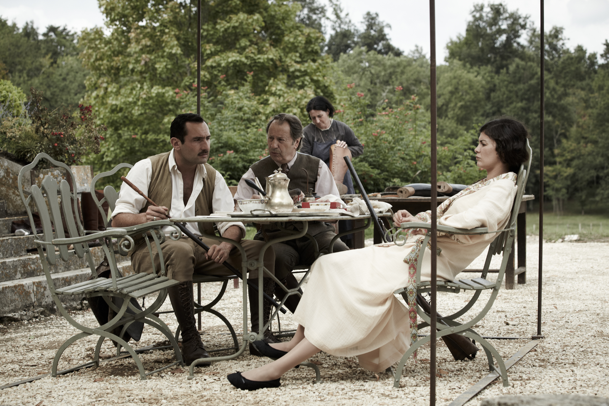
<instances>
[{"instance_id":1,"label":"pale gravel ground beneath the table and chairs","mask_svg":"<svg viewBox=\"0 0 609 406\"><path fill-rule=\"evenodd\" d=\"M478 405L491 396L501 394L574 393L609 396L607 385L609 327L607 326L607 243L546 243L544 244L544 305L543 334L539 345L508 370L510 387L495 381L468 405ZM530 337L536 332L537 315L537 241L529 238L527 247L529 272L526 285L514 290L502 290L495 306L476 330L484 335ZM481 267L483 257L471 267ZM472 278L473 274L462 274ZM212 298L220 289L218 284L203 287L203 297ZM306 289L306 287L305 287ZM459 307L468 297L443 293L440 312ZM484 296L484 294L483 294ZM224 313L241 334L242 290L229 285L224 299L216 309ZM147 301L149 298L147 298ZM167 300L163 309L171 305ZM482 306L482 305L481 305ZM74 312L82 323L94 323L93 313ZM175 318L163 315L163 320L175 331ZM509 323L507 323L509 322ZM290 316L281 318L283 329L295 327ZM275 324L276 326L276 324ZM76 329L63 318L46 317L32 322L0 325L0 385L26 377L48 373L56 349ZM230 345L230 335L221 322L211 316L203 317L203 341L206 347ZM163 341L163 336L149 326L136 348ZM60 361L60 369L85 363L92 358L93 338L72 344ZM527 343L523 340L493 340L499 353L507 360ZM104 358L114 355L114 347L105 341ZM481 351L482 352L482 351ZM141 355L147 370L172 362L170 351L154 351ZM202 404L272 405L314 404L331 405L423 405L429 404L429 346L419 351L421 362L406 363L401 387L392 385L389 374L375 374L359 368L355 358L317 354L312 362L319 364L322 383L313 384L314 373L309 368L292 369L282 379L282 386L254 392L234 390L226 376L233 371L245 371L269 362L245 355L208 368L196 368L195 379L187 380L187 368L175 368L139 380L135 363L121 359L102 363L99 368L87 368L62 377L45 377L32 383L0 391L0 405L57 404ZM448 349L438 345L437 404L449 404L454 398L484 377L484 353L473 361L454 361Z\"/></svg>"}]
</instances>

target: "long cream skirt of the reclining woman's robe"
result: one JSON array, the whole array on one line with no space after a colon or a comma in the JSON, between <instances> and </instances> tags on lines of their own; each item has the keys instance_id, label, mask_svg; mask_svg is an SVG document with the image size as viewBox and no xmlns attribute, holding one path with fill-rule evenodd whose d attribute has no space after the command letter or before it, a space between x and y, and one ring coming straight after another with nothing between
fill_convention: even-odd
<instances>
[{"instance_id":1,"label":"long cream skirt of the reclining woman's robe","mask_svg":"<svg viewBox=\"0 0 609 406\"><path fill-rule=\"evenodd\" d=\"M305 337L328 354L357 355L370 371L400 359L410 346L408 311L393 292L407 285L403 259L412 247L373 246L315 261L294 313Z\"/></svg>"}]
</instances>

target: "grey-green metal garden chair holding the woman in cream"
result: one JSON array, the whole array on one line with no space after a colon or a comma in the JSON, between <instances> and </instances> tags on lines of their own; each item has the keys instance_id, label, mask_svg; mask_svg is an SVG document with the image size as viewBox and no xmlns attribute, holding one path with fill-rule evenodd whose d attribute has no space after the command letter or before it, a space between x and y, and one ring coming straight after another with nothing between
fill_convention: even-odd
<instances>
[{"instance_id":1,"label":"grey-green metal garden chair holding the woman in cream","mask_svg":"<svg viewBox=\"0 0 609 406\"><path fill-rule=\"evenodd\" d=\"M437 281L437 291L438 292L452 292L459 293L461 290L464 291L474 291L473 297L468 301L468 303L462 307L459 311L452 313L451 315L445 317L436 317L437 320L437 338L443 337L448 334L460 334L465 337L471 338L472 340L478 341L484 352L487 355L488 359L488 368L490 371L496 371L503 381L503 386L509 386L507 379L507 369L505 369L505 364L499 352L491 345L487 340L481 337L480 334L475 332L471 327L474 326L478 321L482 320L485 315L488 313L488 310L493 307L493 303L495 303L495 299L499 293L499 289L501 288L501 282L503 280L505 274L505 268L507 267L510 253L512 251L512 243L515 236L516 229L516 219L518 217L518 209L520 207L521 200L524 194L524 187L527 183L527 178L529 177L530 163L532 157L532 150L530 148L529 142L527 141L527 150L529 151L529 161L525 168L524 164L521 165L518 171L518 178L516 180L516 186L518 186L518 191L516 192L516 197L514 198L512 213L510 215L509 223L506 228L499 231L488 231L488 228L473 228L473 229L462 229L462 228L453 228L448 226L438 225L438 231L442 231L444 233L450 234L468 234L468 235L481 235L481 234L490 234L497 233L498 235L495 237L495 240L491 242L488 247L487 259L484 264L484 268L482 269L482 275L480 278L474 279L459 279L455 282L445 282L445 281ZM423 222L410 222L403 223L401 230L396 231L394 234L393 240L395 241L398 237L398 233L405 229L410 228L424 228L431 229L431 224L423 223ZM421 248L421 252L417 259L417 283L416 283L416 291L417 293L424 293L431 291L431 282L421 282L421 264L423 262L423 254L424 247L427 246L427 243L431 235L428 233L423 240L423 245ZM499 268L499 273L497 276L497 280L495 282L487 281L488 268L490 266L491 258L495 254L502 254L501 267ZM471 320L466 321L465 323L460 323L457 321L457 318L465 315L471 307L474 306L477 299L480 297L483 290L490 290L490 297L488 298L487 304L484 306L484 309L481 310L477 315L471 318ZM398 289L395 294L401 294L406 302L408 302L408 292L406 288ZM424 327L429 327L431 323L431 315L424 312L423 309L417 304L417 314L423 319L423 323L418 324L418 328L422 329ZM400 378L402 371L404 369L404 364L406 360L409 359L410 355L412 355L418 348L427 343L431 338L431 335L427 335L426 337L421 338L420 340L415 341L415 343L411 343L410 348L406 351L406 354L398 363L398 368L394 373L393 386L398 388L400 387ZM499 365L499 370L496 368L495 363L493 363L493 357L495 357L497 364Z\"/></svg>"}]
</instances>

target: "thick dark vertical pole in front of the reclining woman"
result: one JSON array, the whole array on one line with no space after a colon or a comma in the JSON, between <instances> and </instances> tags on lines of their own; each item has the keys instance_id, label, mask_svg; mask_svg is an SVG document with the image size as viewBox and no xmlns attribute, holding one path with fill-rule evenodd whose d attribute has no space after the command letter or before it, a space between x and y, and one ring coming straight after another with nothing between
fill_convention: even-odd
<instances>
[{"instance_id":1,"label":"thick dark vertical pole in front of the reclining woman","mask_svg":"<svg viewBox=\"0 0 609 406\"><path fill-rule=\"evenodd\" d=\"M429 357L429 404L435 405L435 314L437 309L437 107L435 94L435 0L429 0L429 74L431 83L431 355ZM423 250L425 247L423 247Z\"/></svg>"}]
</instances>

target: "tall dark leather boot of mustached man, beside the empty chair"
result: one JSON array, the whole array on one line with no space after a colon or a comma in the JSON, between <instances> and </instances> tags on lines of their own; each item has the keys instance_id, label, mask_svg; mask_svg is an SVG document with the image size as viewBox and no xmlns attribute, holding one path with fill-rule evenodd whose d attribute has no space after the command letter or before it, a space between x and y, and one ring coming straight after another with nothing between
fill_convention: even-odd
<instances>
[{"instance_id":1,"label":"tall dark leather boot of mustached man, beside the empty chair","mask_svg":"<svg viewBox=\"0 0 609 406\"><path fill-rule=\"evenodd\" d=\"M194 296L192 293L192 281L180 282L167 289L171 306L174 307L175 318L180 323L182 334L182 358L185 365L191 365L199 358L209 358L209 354L203 347L201 335L197 331L194 320ZM209 366L211 362L200 363L199 366Z\"/></svg>"}]
</instances>

